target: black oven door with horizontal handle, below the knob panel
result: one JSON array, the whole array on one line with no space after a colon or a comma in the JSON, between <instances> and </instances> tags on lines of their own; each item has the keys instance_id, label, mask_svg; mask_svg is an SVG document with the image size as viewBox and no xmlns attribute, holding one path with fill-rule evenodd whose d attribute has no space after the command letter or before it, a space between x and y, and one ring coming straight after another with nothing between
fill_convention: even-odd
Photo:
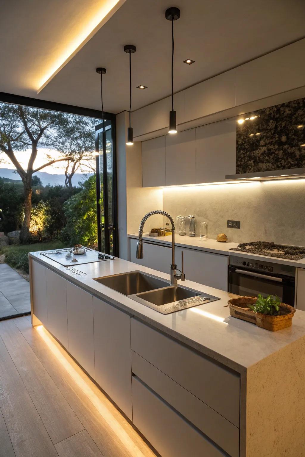
<instances>
[{"instance_id":1,"label":"black oven door with horizontal handle, below the knob panel","mask_svg":"<svg viewBox=\"0 0 305 457\"><path fill-rule=\"evenodd\" d=\"M271 276L229 266L229 292L236 295L277 295L281 302L294 306L294 282L290 276Z\"/></svg>"}]
</instances>

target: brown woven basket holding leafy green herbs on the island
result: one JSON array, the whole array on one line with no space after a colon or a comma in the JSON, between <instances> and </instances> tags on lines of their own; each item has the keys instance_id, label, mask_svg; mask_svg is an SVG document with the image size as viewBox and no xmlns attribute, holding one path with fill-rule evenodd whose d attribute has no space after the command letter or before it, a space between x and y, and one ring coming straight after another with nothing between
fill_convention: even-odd
<instances>
[{"instance_id":1,"label":"brown woven basket holding leafy green herbs on the island","mask_svg":"<svg viewBox=\"0 0 305 457\"><path fill-rule=\"evenodd\" d=\"M295 308L285 303L279 305L280 313L278 316L271 316L269 314L255 313L251 311L249 305L254 305L257 302L257 297L238 297L232 298L228 301L230 307L230 315L237 318L252 322L258 327L271 330L286 329L292 325L292 318L294 317Z\"/></svg>"}]
</instances>

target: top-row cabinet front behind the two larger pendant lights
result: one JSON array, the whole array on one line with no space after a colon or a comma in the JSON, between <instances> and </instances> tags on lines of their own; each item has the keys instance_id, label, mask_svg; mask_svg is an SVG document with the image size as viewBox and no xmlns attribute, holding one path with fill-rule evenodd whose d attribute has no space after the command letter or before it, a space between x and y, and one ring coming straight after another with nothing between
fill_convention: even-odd
<instances>
[{"instance_id":1,"label":"top-row cabinet front behind the two larger pendant lights","mask_svg":"<svg viewBox=\"0 0 305 457\"><path fill-rule=\"evenodd\" d=\"M177 112L177 124L185 122L183 90L174 95L174 107ZM168 128L170 111L171 97L167 97L131 113L134 137Z\"/></svg>"}]
</instances>

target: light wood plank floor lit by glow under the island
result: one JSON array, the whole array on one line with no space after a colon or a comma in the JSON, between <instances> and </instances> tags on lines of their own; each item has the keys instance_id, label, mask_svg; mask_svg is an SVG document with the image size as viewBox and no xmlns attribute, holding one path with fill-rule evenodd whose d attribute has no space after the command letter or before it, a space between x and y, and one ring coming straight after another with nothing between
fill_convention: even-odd
<instances>
[{"instance_id":1,"label":"light wood plank floor lit by glow under the island","mask_svg":"<svg viewBox=\"0 0 305 457\"><path fill-rule=\"evenodd\" d=\"M154 457L30 316L0 322L0 457Z\"/></svg>"}]
</instances>

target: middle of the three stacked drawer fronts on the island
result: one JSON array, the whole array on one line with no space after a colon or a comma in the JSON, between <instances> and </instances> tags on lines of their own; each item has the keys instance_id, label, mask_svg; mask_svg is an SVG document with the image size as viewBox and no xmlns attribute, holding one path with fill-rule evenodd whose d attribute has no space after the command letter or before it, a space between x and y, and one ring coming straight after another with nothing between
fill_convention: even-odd
<instances>
[{"instance_id":1,"label":"middle of the three stacked drawer fronts on the island","mask_svg":"<svg viewBox=\"0 0 305 457\"><path fill-rule=\"evenodd\" d=\"M239 455L239 429L158 368L131 351L132 372L199 430L228 452Z\"/></svg>"}]
</instances>

